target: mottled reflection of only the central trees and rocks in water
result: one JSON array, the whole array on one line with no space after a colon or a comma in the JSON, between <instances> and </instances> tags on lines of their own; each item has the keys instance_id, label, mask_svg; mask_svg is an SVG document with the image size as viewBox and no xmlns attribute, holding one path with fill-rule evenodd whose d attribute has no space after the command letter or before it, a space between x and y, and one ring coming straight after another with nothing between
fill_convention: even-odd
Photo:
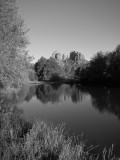
<instances>
[{"instance_id":1,"label":"mottled reflection of only the central trees and rocks in water","mask_svg":"<svg viewBox=\"0 0 120 160\"><path fill-rule=\"evenodd\" d=\"M56 103L60 102L61 99L66 100L67 98L71 98L72 102L77 103L82 101L83 98L82 92L76 85L70 86L66 84L62 84L61 86L55 84L40 85L37 88L36 96L43 103Z\"/></svg>"}]
</instances>

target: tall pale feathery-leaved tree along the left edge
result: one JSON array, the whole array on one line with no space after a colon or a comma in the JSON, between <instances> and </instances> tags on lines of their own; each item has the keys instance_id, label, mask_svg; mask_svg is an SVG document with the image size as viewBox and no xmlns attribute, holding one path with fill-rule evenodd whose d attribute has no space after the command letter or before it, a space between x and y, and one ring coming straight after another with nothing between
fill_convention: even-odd
<instances>
[{"instance_id":1,"label":"tall pale feathery-leaved tree along the left edge","mask_svg":"<svg viewBox=\"0 0 120 160\"><path fill-rule=\"evenodd\" d=\"M0 1L0 84L17 88L28 80L32 57L23 19L18 15L16 0Z\"/></svg>"}]
</instances>

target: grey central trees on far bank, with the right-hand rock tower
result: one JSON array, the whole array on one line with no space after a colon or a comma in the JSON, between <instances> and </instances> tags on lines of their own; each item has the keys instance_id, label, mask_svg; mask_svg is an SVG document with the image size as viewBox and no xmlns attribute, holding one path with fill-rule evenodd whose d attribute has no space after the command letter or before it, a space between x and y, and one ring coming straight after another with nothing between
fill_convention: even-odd
<instances>
[{"instance_id":1,"label":"grey central trees on far bank, with the right-hand rock tower","mask_svg":"<svg viewBox=\"0 0 120 160\"><path fill-rule=\"evenodd\" d=\"M79 52L71 52L70 58L62 61L56 58L41 57L35 64L35 71L39 80L64 81L73 79L75 70L86 63L84 56Z\"/></svg>"}]
</instances>

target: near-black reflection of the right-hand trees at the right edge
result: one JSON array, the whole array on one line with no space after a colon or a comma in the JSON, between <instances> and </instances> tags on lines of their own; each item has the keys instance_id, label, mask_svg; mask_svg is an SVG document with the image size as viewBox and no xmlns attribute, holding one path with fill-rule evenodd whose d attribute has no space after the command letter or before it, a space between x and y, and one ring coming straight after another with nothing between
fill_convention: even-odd
<instances>
[{"instance_id":1,"label":"near-black reflection of the right-hand trees at the right edge","mask_svg":"<svg viewBox=\"0 0 120 160\"><path fill-rule=\"evenodd\" d=\"M119 88L88 88L92 104L100 112L113 113L120 118L120 89Z\"/></svg>"}]
</instances>

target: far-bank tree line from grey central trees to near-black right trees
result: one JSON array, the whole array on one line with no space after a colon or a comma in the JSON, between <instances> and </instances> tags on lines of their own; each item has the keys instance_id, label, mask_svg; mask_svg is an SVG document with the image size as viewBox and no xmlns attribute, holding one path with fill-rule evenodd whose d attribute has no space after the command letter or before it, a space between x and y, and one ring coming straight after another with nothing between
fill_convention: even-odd
<instances>
[{"instance_id":1,"label":"far-bank tree line from grey central trees to near-black right trees","mask_svg":"<svg viewBox=\"0 0 120 160\"><path fill-rule=\"evenodd\" d=\"M97 52L90 61L75 61L77 51L70 52L66 61L41 57L35 63L38 80L68 81L81 84L120 84L120 45L110 52ZM74 56L73 56L74 55ZM72 57L72 58L71 58Z\"/></svg>"}]
</instances>

